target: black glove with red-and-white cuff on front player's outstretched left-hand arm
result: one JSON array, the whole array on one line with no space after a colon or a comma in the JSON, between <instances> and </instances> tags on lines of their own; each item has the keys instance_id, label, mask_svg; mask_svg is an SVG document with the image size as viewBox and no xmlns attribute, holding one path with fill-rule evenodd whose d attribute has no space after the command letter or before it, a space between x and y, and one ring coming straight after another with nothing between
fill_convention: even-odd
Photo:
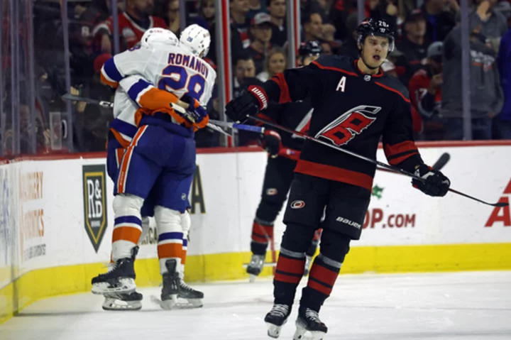
<instances>
[{"instance_id":1,"label":"black glove with red-and-white cuff on front player's outstretched left-hand arm","mask_svg":"<svg viewBox=\"0 0 511 340\"><path fill-rule=\"evenodd\" d=\"M247 92L226 105L226 116L237 123L243 123L247 116L255 116L268 106L268 96L263 87L251 85Z\"/></svg>"}]
</instances>

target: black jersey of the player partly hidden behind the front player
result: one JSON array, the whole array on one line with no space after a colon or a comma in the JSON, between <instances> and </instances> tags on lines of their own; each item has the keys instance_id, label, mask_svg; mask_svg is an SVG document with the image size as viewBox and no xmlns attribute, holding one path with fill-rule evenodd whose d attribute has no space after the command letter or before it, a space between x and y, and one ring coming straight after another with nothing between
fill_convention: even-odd
<instances>
[{"instance_id":1,"label":"black jersey of the player partly hidden behind the front player","mask_svg":"<svg viewBox=\"0 0 511 340\"><path fill-rule=\"evenodd\" d=\"M309 131L312 111L314 110L312 109L311 100L306 98L299 102L288 102L284 104L270 103L268 104L268 109L261 111L258 117L267 121L273 121L295 131L307 133ZM272 126L267 126L267 128L275 130ZM278 132L282 138L282 146L293 150L302 150L304 144L303 137L297 134Z\"/></svg>"}]
</instances>

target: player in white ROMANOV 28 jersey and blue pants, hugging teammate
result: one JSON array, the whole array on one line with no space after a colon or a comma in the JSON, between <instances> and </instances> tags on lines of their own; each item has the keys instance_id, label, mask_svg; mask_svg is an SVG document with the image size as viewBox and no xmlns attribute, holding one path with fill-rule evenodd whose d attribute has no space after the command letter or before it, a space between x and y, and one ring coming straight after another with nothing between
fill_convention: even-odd
<instances>
[{"instance_id":1,"label":"player in white ROMANOV 28 jersey and blue pants, hugging teammate","mask_svg":"<svg viewBox=\"0 0 511 340\"><path fill-rule=\"evenodd\" d=\"M114 199L114 236L112 261L108 273L92 280L93 292L99 294L129 293L136 289L133 261L141 236L141 207L145 199L153 199L158 226L158 258L163 275L162 300L167 307L175 304L184 282L180 280L183 230L181 216L187 208L187 195L195 170L193 132L207 124L206 104L216 78L214 70L202 60L209 48L209 33L199 26L182 32L180 47L170 44L133 48L107 61L102 70L106 83L116 86L129 75L144 79L131 81L126 93L143 108L149 102L161 101L158 89L177 94L189 104L191 117L182 115L164 103L153 111L138 110L133 124L117 123L117 134L128 126L139 126L123 154L116 178ZM158 86L155 89L148 81ZM172 101L173 103L173 101ZM119 120L121 121L121 120ZM119 139L119 138L116 138Z\"/></svg>"}]
</instances>

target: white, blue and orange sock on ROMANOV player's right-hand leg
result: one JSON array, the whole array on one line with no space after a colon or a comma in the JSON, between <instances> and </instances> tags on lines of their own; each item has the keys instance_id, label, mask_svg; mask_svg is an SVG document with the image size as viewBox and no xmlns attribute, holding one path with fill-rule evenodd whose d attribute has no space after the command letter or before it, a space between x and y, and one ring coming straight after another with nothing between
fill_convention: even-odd
<instances>
[{"instance_id":1,"label":"white, blue and orange sock on ROMANOV player's right-hand leg","mask_svg":"<svg viewBox=\"0 0 511 340\"><path fill-rule=\"evenodd\" d=\"M177 261L177 270L180 271L183 241L180 215L180 212L172 209L155 207L155 220L158 227L158 259L162 275L167 273L165 262L170 259Z\"/></svg>"}]
</instances>

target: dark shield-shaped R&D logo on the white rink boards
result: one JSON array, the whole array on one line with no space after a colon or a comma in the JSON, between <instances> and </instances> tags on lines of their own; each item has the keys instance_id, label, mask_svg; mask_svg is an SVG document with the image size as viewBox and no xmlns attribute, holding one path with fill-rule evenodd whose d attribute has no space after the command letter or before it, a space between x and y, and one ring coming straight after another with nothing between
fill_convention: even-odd
<instances>
[{"instance_id":1,"label":"dark shield-shaped R&D logo on the white rink boards","mask_svg":"<svg viewBox=\"0 0 511 340\"><path fill-rule=\"evenodd\" d=\"M98 251L106 231L106 171L104 165L84 165L82 170L85 231Z\"/></svg>"}]
</instances>

